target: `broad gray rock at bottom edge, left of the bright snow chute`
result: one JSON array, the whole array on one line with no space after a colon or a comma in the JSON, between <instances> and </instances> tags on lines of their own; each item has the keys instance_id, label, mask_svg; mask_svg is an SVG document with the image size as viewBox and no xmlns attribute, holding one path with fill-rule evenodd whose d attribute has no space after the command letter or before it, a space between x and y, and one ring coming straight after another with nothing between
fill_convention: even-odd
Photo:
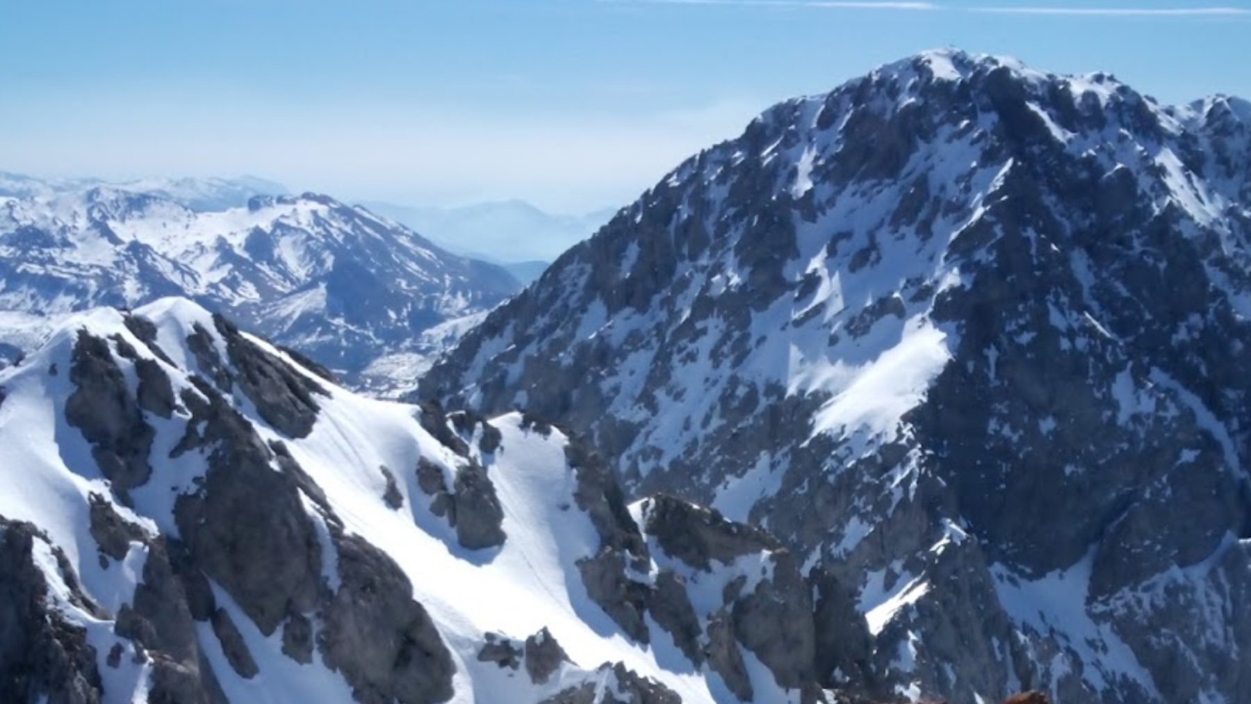
<instances>
[{"instance_id":1,"label":"broad gray rock at bottom edge, left of the bright snow chute","mask_svg":"<svg viewBox=\"0 0 1251 704\"><path fill-rule=\"evenodd\" d=\"M360 704L452 699L455 665L413 585L383 551L337 531L342 584L323 606L318 649Z\"/></svg>"}]
</instances>

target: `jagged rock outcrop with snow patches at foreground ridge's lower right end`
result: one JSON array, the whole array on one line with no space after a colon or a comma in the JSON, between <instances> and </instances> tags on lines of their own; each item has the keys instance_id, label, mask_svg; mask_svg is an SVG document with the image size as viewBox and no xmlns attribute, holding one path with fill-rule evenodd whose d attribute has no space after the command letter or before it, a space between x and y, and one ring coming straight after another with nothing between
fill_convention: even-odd
<instances>
[{"instance_id":1,"label":"jagged rock outcrop with snow patches at foreground ridge's lower right end","mask_svg":"<svg viewBox=\"0 0 1251 704\"><path fill-rule=\"evenodd\" d=\"M602 466L582 459L583 466ZM587 479L613 484L595 471ZM609 496L617 491L599 494L600 515L614 515ZM881 691L864 619L832 576L814 575L813 586L774 538L672 496L644 499L626 518L633 530L623 519L602 540L637 545L633 553L604 543L595 558L578 564L587 594L626 635L653 643L654 621L694 668L716 673L739 701L756 700L762 686L798 693L804 701L819 700L822 685ZM627 563L631 554L646 558L642 566ZM831 624L833 618L846 620ZM818 626L832 629L819 648ZM753 683L744 653L763 665L767 680ZM851 674L836 679L836 671Z\"/></svg>"}]
</instances>

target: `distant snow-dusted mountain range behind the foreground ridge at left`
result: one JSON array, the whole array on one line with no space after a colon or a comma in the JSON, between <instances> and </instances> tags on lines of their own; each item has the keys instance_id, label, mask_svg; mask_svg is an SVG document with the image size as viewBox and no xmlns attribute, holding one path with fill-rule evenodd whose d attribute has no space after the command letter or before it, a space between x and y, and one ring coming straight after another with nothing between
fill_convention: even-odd
<instances>
[{"instance_id":1,"label":"distant snow-dusted mountain range behind the foreground ridge at left","mask_svg":"<svg viewBox=\"0 0 1251 704\"><path fill-rule=\"evenodd\" d=\"M214 183L3 183L24 185L8 188L20 198L0 196L0 354L10 358L66 313L178 295L355 388L388 391L393 370L412 378L449 334L519 288L499 266L323 195L221 208L235 191Z\"/></svg>"}]
</instances>

